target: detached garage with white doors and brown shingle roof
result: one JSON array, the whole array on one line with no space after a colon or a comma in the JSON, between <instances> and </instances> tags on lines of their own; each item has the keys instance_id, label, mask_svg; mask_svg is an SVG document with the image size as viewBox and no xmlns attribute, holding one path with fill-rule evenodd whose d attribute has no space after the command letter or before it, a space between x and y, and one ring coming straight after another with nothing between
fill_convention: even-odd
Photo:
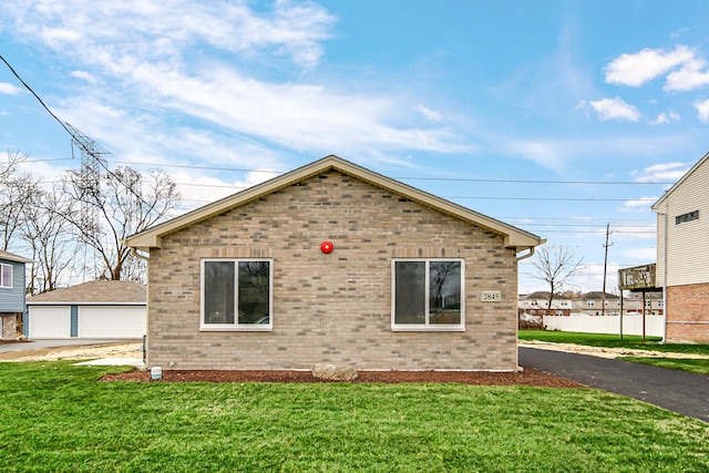
<instances>
[{"instance_id":1,"label":"detached garage with white doors and brown shingle roof","mask_svg":"<svg viewBox=\"0 0 709 473\"><path fill-rule=\"evenodd\" d=\"M141 338L145 335L145 286L95 280L27 300L25 335L42 338Z\"/></svg>"}]
</instances>

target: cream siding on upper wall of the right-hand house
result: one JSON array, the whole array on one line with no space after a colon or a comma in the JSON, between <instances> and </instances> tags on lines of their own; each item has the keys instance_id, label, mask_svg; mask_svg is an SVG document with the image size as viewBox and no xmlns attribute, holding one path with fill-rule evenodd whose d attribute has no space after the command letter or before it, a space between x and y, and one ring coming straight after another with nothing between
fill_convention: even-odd
<instances>
[{"instance_id":1,"label":"cream siding on upper wall of the right-hand house","mask_svg":"<svg viewBox=\"0 0 709 473\"><path fill-rule=\"evenodd\" d=\"M676 224L675 217L695 210L699 219ZM709 282L709 160L677 185L657 212L658 285L665 276L665 241L668 286Z\"/></svg>"}]
</instances>

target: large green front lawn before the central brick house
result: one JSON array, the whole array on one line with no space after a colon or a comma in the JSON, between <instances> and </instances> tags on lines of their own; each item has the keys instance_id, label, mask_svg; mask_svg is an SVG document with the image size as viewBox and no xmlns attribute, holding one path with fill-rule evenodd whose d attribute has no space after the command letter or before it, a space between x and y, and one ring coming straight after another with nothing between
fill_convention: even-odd
<instances>
[{"instance_id":1,"label":"large green front lawn before the central brick house","mask_svg":"<svg viewBox=\"0 0 709 473\"><path fill-rule=\"evenodd\" d=\"M96 382L0 364L1 471L709 471L709 425L592 389Z\"/></svg>"}]
</instances>

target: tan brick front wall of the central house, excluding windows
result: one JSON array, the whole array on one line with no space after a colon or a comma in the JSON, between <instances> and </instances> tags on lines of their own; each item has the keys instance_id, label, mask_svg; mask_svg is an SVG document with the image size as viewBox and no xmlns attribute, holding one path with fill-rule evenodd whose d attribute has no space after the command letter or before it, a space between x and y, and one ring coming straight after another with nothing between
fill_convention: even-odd
<instances>
[{"instance_id":1,"label":"tan brick front wall of the central house, excluding windows","mask_svg":"<svg viewBox=\"0 0 709 473\"><path fill-rule=\"evenodd\" d=\"M273 258L273 331L199 331L199 261L214 257ZM391 331L391 261L402 257L464 258L465 331ZM502 301L481 302L482 290ZM516 370L516 295L515 254L501 236L329 172L163 238L148 265L147 361Z\"/></svg>"}]
</instances>

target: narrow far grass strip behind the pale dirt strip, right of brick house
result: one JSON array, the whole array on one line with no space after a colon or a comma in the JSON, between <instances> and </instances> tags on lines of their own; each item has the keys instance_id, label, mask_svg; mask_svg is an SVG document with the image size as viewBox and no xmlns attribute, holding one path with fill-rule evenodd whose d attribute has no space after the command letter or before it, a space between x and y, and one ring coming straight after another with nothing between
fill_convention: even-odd
<instances>
[{"instance_id":1,"label":"narrow far grass strip behind the pale dirt strip, right of brick house","mask_svg":"<svg viewBox=\"0 0 709 473\"><path fill-rule=\"evenodd\" d=\"M576 333L547 330L520 330L520 340L540 340L555 343L576 343L589 347L629 348L636 350L661 351L665 353L692 353L709 356L709 345L661 343L659 337L624 335L623 340L617 335Z\"/></svg>"}]
</instances>

